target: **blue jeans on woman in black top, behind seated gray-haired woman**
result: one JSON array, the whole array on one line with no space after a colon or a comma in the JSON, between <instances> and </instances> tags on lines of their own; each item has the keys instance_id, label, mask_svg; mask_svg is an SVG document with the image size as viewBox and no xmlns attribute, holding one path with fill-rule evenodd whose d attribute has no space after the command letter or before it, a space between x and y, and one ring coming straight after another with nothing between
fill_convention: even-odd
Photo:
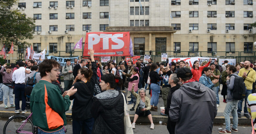
<instances>
[{"instance_id":1,"label":"blue jeans on woman in black top, behind seated gray-haired woman","mask_svg":"<svg viewBox=\"0 0 256 134\"><path fill-rule=\"evenodd\" d=\"M150 100L150 105L157 106L158 101L159 101L160 86L155 83L151 83L151 90L152 90L151 91L152 97Z\"/></svg>"}]
</instances>

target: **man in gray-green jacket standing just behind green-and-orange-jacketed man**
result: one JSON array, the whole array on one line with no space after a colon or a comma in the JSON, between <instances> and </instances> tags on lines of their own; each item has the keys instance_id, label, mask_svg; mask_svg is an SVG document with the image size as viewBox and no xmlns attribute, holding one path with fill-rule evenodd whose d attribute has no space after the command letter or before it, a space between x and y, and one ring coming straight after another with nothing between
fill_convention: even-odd
<instances>
[{"instance_id":1,"label":"man in gray-green jacket standing just behind green-and-orange-jacketed man","mask_svg":"<svg viewBox=\"0 0 256 134\"><path fill-rule=\"evenodd\" d=\"M73 66L71 66L70 59L66 59L66 66L62 67L62 74L64 75L64 91L67 91L71 88L74 80L73 76Z\"/></svg>"}]
</instances>

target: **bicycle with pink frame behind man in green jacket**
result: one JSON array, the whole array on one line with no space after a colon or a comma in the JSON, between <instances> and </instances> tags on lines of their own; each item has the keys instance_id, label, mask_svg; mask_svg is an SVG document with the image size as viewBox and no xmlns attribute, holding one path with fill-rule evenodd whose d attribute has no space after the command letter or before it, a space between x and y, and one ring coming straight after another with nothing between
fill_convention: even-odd
<instances>
[{"instance_id":1,"label":"bicycle with pink frame behind man in green jacket","mask_svg":"<svg viewBox=\"0 0 256 134\"><path fill-rule=\"evenodd\" d=\"M32 113L27 117L25 115L15 115L10 117L4 125L3 134L24 133L24 134L37 134L38 127L33 125L31 119ZM67 125L65 125L65 133L72 132L72 118L66 115Z\"/></svg>"}]
</instances>

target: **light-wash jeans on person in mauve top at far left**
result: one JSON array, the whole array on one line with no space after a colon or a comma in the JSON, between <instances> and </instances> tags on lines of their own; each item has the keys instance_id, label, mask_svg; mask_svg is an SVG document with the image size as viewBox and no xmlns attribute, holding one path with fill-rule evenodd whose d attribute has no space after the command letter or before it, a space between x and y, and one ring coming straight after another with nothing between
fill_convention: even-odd
<instances>
[{"instance_id":1,"label":"light-wash jeans on person in mauve top at far left","mask_svg":"<svg viewBox=\"0 0 256 134\"><path fill-rule=\"evenodd\" d=\"M11 84L10 84L10 86L11 86ZM13 88L2 84L2 90L4 92L4 105L7 105L8 96L9 96L9 102L12 105L13 104Z\"/></svg>"}]
</instances>

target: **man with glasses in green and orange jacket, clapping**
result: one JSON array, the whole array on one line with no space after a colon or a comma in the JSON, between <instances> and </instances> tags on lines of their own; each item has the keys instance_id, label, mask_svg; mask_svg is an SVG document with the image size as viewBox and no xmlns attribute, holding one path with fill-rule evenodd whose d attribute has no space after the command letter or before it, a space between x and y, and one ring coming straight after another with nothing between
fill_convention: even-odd
<instances>
[{"instance_id":1,"label":"man with glasses in green and orange jacket, clapping","mask_svg":"<svg viewBox=\"0 0 256 134\"><path fill-rule=\"evenodd\" d=\"M61 95L59 87L51 84L58 79L59 66L53 59L43 60L40 64L42 79L35 84L30 95L33 124L38 126L38 133L65 134L63 125L67 124L65 112L71 104L69 96L74 95L77 89L71 87Z\"/></svg>"}]
</instances>

